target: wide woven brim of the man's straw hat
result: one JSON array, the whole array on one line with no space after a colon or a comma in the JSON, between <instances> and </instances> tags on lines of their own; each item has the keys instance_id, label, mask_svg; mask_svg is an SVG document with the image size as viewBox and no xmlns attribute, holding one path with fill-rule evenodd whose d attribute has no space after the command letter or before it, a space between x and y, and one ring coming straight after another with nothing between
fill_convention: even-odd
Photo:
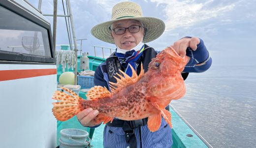
<instances>
[{"instance_id":1,"label":"wide woven brim of the man's straw hat","mask_svg":"<svg viewBox=\"0 0 256 148\"><path fill-rule=\"evenodd\" d=\"M120 18L112 21L107 21L101 24L96 25L92 28L91 34L108 43L114 43L114 39L111 37L111 31L109 29L110 25L116 21L125 20L125 19L132 19L132 20L138 20L141 23L145 25L145 28L147 28L146 36L143 40L144 43L153 41L160 37L165 29L165 24L162 20L154 17L129 17L129 18Z\"/></svg>"}]
</instances>

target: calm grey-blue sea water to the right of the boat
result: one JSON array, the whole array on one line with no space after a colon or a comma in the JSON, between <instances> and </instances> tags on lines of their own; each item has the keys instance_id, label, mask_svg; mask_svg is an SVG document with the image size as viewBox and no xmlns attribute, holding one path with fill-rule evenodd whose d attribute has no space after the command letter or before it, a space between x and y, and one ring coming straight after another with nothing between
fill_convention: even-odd
<instances>
[{"instance_id":1,"label":"calm grey-blue sea water to the right of the boat","mask_svg":"<svg viewBox=\"0 0 256 148\"><path fill-rule=\"evenodd\" d=\"M212 66L190 74L172 106L214 148L255 148L256 66Z\"/></svg>"}]
</instances>

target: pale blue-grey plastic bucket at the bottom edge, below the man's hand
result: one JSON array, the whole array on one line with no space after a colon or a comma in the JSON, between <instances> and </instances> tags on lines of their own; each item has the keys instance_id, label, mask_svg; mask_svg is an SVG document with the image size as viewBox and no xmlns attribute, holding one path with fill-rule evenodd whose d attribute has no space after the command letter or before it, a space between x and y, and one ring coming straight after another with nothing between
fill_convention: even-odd
<instances>
[{"instance_id":1,"label":"pale blue-grey plastic bucket at the bottom edge, below the man's hand","mask_svg":"<svg viewBox=\"0 0 256 148\"><path fill-rule=\"evenodd\" d=\"M85 148L91 142L89 133L84 130L63 129L60 133L60 148Z\"/></svg>"}]
</instances>

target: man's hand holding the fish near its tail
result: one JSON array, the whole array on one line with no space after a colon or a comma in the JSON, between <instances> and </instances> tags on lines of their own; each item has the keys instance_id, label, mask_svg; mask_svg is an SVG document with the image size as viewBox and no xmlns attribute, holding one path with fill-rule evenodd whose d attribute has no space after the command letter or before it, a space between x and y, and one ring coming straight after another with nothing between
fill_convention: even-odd
<instances>
[{"instance_id":1,"label":"man's hand holding the fish near its tail","mask_svg":"<svg viewBox=\"0 0 256 148\"><path fill-rule=\"evenodd\" d=\"M77 113L76 117L78 121L83 126L96 126L95 123L91 121L98 115L98 110L93 110L92 108L85 109L79 113Z\"/></svg>"}]
</instances>

